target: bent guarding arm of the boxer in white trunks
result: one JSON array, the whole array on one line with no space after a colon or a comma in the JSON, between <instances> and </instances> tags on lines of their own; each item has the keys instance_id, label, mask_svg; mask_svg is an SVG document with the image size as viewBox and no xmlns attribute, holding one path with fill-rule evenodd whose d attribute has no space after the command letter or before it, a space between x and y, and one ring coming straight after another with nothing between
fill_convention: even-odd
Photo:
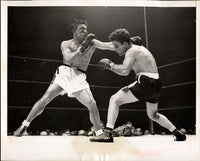
<instances>
[{"instance_id":1,"label":"bent guarding arm of the boxer in white trunks","mask_svg":"<svg viewBox=\"0 0 200 161\"><path fill-rule=\"evenodd\" d=\"M63 59L66 61L72 62L78 57L80 57L82 53L79 50L72 52L72 50L69 47L69 44L70 42L63 41L61 43L61 51L62 51Z\"/></svg>"}]
</instances>

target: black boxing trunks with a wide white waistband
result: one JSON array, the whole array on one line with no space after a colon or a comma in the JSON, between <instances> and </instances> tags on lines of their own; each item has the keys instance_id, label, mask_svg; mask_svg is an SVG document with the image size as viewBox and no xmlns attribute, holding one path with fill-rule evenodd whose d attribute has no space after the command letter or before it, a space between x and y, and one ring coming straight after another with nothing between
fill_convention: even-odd
<instances>
[{"instance_id":1,"label":"black boxing trunks with a wide white waistband","mask_svg":"<svg viewBox=\"0 0 200 161\"><path fill-rule=\"evenodd\" d=\"M158 73L138 73L128 87L138 100L157 103L162 85Z\"/></svg>"}]
</instances>

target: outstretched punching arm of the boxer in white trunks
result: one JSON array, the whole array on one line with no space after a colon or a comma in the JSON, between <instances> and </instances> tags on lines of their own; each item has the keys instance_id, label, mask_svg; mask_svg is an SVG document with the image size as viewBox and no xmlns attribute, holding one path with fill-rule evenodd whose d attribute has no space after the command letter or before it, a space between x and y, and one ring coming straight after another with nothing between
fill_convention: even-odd
<instances>
[{"instance_id":1,"label":"outstretched punching arm of the boxer in white trunks","mask_svg":"<svg viewBox=\"0 0 200 161\"><path fill-rule=\"evenodd\" d=\"M94 39L93 42L95 44L95 47L98 49L115 51L115 47L112 42L101 42L97 39Z\"/></svg>"}]
</instances>

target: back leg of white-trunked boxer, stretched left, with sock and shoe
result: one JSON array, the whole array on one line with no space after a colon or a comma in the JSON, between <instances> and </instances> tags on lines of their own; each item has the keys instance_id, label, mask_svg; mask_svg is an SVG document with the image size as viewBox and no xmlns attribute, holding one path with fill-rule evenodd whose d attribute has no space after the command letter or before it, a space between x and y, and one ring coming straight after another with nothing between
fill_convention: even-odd
<instances>
[{"instance_id":1,"label":"back leg of white-trunked boxer, stretched left, with sock and shoe","mask_svg":"<svg viewBox=\"0 0 200 161\"><path fill-rule=\"evenodd\" d=\"M14 135L22 136L26 128L29 126L30 122L35 117L40 115L44 111L46 105L51 102L55 97L57 97L62 90L63 89L59 85L50 84L44 95L34 104L27 118L22 122L22 125L16 131L14 131Z\"/></svg>"}]
</instances>

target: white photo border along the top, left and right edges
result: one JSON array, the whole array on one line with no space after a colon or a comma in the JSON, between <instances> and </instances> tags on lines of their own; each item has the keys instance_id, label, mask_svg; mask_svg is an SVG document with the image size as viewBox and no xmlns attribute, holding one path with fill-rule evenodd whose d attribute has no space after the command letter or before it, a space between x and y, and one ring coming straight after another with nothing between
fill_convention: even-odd
<instances>
[{"instance_id":1,"label":"white photo border along the top, left and right edges","mask_svg":"<svg viewBox=\"0 0 200 161\"><path fill-rule=\"evenodd\" d=\"M7 14L9 6L120 6L120 7L196 7L196 140L200 151L200 1L137 1L137 0L82 0L82 1L1 1L1 141L7 138ZM3 147L2 147L3 148Z\"/></svg>"}]
</instances>

